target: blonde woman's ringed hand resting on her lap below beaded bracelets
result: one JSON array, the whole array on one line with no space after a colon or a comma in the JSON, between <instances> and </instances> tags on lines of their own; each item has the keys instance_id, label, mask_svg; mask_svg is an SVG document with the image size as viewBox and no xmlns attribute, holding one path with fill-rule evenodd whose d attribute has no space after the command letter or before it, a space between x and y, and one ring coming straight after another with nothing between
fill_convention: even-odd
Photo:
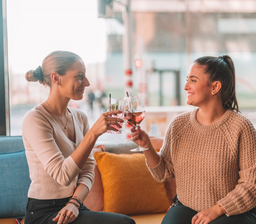
<instances>
[{"instance_id":1,"label":"blonde woman's ringed hand resting on her lap below beaded bracelets","mask_svg":"<svg viewBox=\"0 0 256 224\"><path fill-rule=\"evenodd\" d=\"M75 204L69 203L60 210L58 215L52 221L58 221L57 224L66 224L73 222L79 214Z\"/></svg>"}]
</instances>

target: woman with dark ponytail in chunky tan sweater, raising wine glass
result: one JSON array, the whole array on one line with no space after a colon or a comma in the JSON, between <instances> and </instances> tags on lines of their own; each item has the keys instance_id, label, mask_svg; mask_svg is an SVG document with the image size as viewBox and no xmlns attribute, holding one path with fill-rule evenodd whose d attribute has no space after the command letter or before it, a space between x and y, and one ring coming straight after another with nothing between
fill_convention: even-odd
<instances>
[{"instance_id":1,"label":"woman with dark ponytail in chunky tan sweater, raising wine glass","mask_svg":"<svg viewBox=\"0 0 256 224\"><path fill-rule=\"evenodd\" d=\"M170 123L159 153L148 134L131 128L152 176L175 178L177 196L163 224L256 223L256 131L239 114L236 78L228 55L190 66L187 103L196 106Z\"/></svg>"}]
</instances>

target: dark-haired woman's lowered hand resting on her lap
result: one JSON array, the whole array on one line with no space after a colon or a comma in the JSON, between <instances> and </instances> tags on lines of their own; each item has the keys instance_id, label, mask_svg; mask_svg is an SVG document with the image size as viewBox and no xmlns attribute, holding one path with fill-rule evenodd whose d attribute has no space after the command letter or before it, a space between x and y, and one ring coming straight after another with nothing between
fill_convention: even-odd
<instances>
[{"instance_id":1,"label":"dark-haired woman's lowered hand resting on her lap","mask_svg":"<svg viewBox=\"0 0 256 224\"><path fill-rule=\"evenodd\" d=\"M222 214L225 213L225 209L218 203L211 208L198 212L192 218L192 224L208 224L209 222L219 218Z\"/></svg>"}]
</instances>

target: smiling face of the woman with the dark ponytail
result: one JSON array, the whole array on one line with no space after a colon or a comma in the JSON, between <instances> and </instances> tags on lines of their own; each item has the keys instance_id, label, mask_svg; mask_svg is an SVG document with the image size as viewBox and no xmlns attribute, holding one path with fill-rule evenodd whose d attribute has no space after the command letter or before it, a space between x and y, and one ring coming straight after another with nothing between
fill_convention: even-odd
<instances>
[{"instance_id":1,"label":"smiling face of the woman with the dark ponytail","mask_svg":"<svg viewBox=\"0 0 256 224\"><path fill-rule=\"evenodd\" d=\"M187 104L202 107L209 103L212 96L212 86L207 84L204 68L193 63L188 71L187 83L184 89L188 92Z\"/></svg>"}]
</instances>

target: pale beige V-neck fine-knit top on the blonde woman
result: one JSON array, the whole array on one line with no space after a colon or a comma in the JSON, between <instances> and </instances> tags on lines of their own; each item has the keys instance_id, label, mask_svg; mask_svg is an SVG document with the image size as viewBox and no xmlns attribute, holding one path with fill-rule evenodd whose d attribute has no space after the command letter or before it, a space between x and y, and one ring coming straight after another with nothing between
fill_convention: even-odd
<instances>
[{"instance_id":1,"label":"pale beige V-neck fine-knit top on the blonde woman","mask_svg":"<svg viewBox=\"0 0 256 224\"><path fill-rule=\"evenodd\" d=\"M22 121L22 137L29 166L31 184L28 197L57 199L72 196L76 185L83 183L89 190L94 180L92 153L80 169L70 156L89 130L87 116L69 108L76 142L72 142L53 117L39 104L28 111Z\"/></svg>"}]
</instances>

